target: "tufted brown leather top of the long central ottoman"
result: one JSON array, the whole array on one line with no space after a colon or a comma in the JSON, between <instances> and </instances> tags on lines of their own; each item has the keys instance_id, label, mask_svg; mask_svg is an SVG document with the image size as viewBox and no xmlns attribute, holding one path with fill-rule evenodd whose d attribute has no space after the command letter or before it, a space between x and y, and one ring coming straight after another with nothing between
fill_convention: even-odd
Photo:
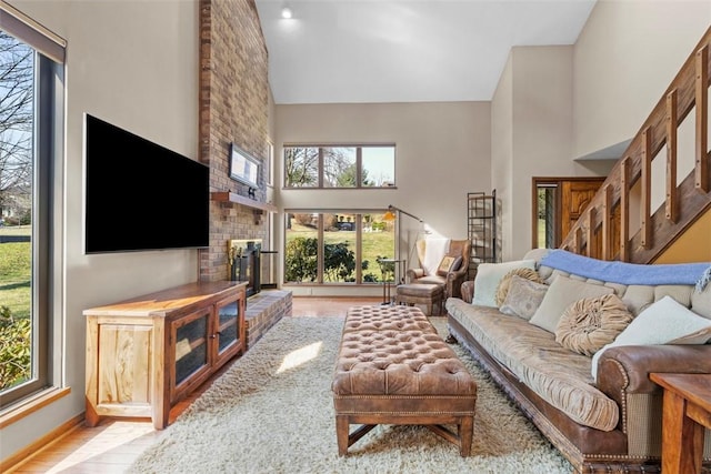
<instances>
[{"instance_id":1,"label":"tufted brown leather top of the long central ottoman","mask_svg":"<svg viewBox=\"0 0 711 474\"><path fill-rule=\"evenodd\" d=\"M336 395L477 393L464 364L419 309L369 307L349 310L332 383Z\"/></svg>"}]
</instances>

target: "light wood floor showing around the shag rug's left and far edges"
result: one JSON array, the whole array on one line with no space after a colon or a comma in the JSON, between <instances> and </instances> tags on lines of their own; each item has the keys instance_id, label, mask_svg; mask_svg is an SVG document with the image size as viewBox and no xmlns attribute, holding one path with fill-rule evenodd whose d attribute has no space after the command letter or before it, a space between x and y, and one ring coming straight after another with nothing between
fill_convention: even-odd
<instances>
[{"instance_id":1,"label":"light wood floor showing around the shag rug's left and far edges","mask_svg":"<svg viewBox=\"0 0 711 474\"><path fill-rule=\"evenodd\" d=\"M330 316L346 314L348 307L358 304L377 304L377 297L293 297L293 317ZM190 403L204 392L210 383L229 366L227 364L196 392L170 411L172 423ZM107 418L96 427L83 424L46 446L10 473L123 473L152 443L160 431L148 418Z\"/></svg>"}]
</instances>

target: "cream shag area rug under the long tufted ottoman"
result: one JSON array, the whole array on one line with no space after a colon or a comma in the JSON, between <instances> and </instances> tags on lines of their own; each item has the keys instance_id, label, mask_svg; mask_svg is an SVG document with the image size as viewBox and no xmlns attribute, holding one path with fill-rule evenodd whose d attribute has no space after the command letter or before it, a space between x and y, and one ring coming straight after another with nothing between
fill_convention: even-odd
<instances>
[{"instance_id":1,"label":"cream shag area rug under the long tufted ottoman","mask_svg":"<svg viewBox=\"0 0 711 474\"><path fill-rule=\"evenodd\" d=\"M459 345L478 383L470 457L423 426L379 425L339 457L331 376L343 317L284 317L168 426L130 473L570 473ZM433 317L440 334L445 319ZM351 428L352 430L352 428Z\"/></svg>"}]
</instances>

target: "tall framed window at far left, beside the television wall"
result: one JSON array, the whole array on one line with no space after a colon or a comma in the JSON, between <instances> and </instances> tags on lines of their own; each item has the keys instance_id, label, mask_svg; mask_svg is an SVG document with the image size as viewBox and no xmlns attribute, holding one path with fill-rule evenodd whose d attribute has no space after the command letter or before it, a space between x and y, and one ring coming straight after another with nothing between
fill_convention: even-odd
<instances>
[{"instance_id":1,"label":"tall framed window at far left, beside the television wall","mask_svg":"<svg viewBox=\"0 0 711 474\"><path fill-rule=\"evenodd\" d=\"M63 44L0 10L0 410L53 384ZM56 365L54 365L56 364Z\"/></svg>"}]
</instances>

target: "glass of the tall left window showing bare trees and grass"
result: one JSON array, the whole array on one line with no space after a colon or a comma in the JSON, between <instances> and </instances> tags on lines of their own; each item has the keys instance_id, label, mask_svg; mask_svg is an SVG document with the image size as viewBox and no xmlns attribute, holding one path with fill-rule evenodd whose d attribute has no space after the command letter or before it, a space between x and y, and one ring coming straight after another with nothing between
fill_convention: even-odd
<instances>
[{"instance_id":1,"label":"glass of the tall left window showing bare trees and grass","mask_svg":"<svg viewBox=\"0 0 711 474\"><path fill-rule=\"evenodd\" d=\"M0 391L32 376L33 57L0 31Z\"/></svg>"}]
</instances>

